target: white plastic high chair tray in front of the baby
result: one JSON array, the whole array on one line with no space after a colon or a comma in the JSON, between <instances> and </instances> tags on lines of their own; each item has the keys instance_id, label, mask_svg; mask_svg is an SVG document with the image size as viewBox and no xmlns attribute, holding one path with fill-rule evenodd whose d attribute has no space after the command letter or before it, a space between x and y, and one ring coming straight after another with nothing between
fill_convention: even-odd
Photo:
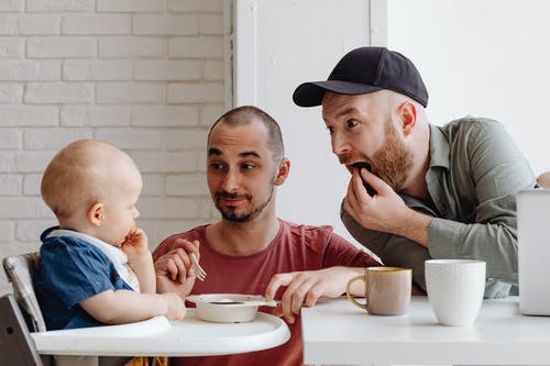
<instances>
[{"instance_id":1,"label":"white plastic high chair tray in front of the baby","mask_svg":"<svg viewBox=\"0 0 550 366\"><path fill-rule=\"evenodd\" d=\"M266 350L288 341L290 332L283 320L263 312L252 322L209 323L198 319L196 309L187 309L183 321L156 317L131 324L31 335L38 353L69 356L56 357L58 364L95 365L97 356L185 357ZM70 357L80 355L88 357Z\"/></svg>"}]
</instances>

